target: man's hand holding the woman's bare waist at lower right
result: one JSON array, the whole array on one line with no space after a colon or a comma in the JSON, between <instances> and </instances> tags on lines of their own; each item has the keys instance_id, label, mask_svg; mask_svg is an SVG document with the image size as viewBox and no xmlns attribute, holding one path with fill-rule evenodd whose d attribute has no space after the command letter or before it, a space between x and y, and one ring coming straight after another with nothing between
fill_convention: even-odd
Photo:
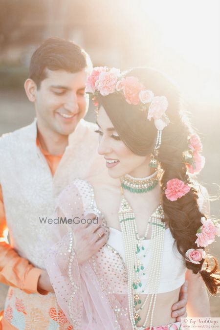
<instances>
[{"instance_id":1,"label":"man's hand holding the woman's bare waist at lower right","mask_svg":"<svg viewBox=\"0 0 220 330\"><path fill-rule=\"evenodd\" d=\"M172 306L173 311L171 313L171 317L176 317L176 322L181 321L181 317L187 317L187 288L188 281L185 281L180 288L179 301Z\"/></svg>"}]
</instances>

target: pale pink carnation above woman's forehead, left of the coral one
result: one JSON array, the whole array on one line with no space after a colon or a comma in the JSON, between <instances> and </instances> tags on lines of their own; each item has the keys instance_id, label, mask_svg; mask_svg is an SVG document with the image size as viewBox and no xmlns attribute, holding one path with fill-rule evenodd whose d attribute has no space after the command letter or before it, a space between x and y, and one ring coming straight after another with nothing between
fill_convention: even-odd
<instances>
[{"instance_id":1,"label":"pale pink carnation above woman's forehead, left of the coral one","mask_svg":"<svg viewBox=\"0 0 220 330\"><path fill-rule=\"evenodd\" d=\"M95 87L98 89L101 95L106 96L115 91L118 76L120 74L119 69L114 67L110 71L102 71L95 82Z\"/></svg>"}]
</instances>

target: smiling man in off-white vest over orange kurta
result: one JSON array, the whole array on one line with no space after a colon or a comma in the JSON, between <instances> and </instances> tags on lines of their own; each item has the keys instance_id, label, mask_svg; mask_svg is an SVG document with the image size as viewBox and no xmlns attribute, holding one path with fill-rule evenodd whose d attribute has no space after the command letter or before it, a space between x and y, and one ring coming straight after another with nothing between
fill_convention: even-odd
<instances>
[{"instance_id":1,"label":"smiling man in off-white vest over orange kurta","mask_svg":"<svg viewBox=\"0 0 220 330\"><path fill-rule=\"evenodd\" d=\"M0 138L0 282L9 286L0 329L72 329L44 270L50 233L39 218L53 213L55 198L74 178L105 167L95 125L83 119L90 70L88 54L79 46L47 39L34 52L24 83L36 119ZM172 317L186 316L184 287Z\"/></svg>"}]
</instances>

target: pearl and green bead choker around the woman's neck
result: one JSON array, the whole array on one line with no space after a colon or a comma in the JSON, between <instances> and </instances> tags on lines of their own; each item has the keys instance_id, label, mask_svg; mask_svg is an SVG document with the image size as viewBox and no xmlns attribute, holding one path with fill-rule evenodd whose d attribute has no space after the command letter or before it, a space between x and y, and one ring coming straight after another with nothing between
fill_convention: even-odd
<instances>
[{"instance_id":1,"label":"pearl and green bead choker around the woman's neck","mask_svg":"<svg viewBox=\"0 0 220 330\"><path fill-rule=\"evenodd\" d=\"M132 193L146 193L154 189L160 179L159 171L155 171L151 176L146 177L133 177L126 174L122 181L121 186Z\"/></svg>"}]
</instances>

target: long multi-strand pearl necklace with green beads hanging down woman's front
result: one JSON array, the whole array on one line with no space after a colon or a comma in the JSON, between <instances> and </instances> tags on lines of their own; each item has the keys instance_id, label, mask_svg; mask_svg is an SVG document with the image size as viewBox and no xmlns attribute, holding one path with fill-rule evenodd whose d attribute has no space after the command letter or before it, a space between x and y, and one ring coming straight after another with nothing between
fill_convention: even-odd
<instances>
[{"instance_id":1,"label":"long multi-strand pearl necklace with green beads hanging down woman's front","mask_svg":"<svg viewBox=\"0 0 220 330\"><path fill-rule=\"evenodd\" d=\"M118 214L125 247L125 261L128 271L128 301L132 330L138 329L137 323L141 320L139 312L146 305L150 297L150 292L153 292L150 299L148 313L143 324L143 329L145 329L151 312L151 329L156 303L156 295L161 276L162 254L164 247L165 223L161 221L161 219L164 219L163 209L162 206L159 205L153 215L149 218L147 229L143 238L140 238L138 235L132 207L125 199L123 192ZM149 251L147 251L147 253L150 252L150 263L148 268L144 269L144 265L141 263L141 257L139 257L139 253L140 250L145 249L141 241L146 239L150 223L152 224L152 234ZM143 256L143 258L145 257L146 255ZM149 278L146 285L141 289L143 285L141 282L141 277L146 274L146 270L149 273ZM149 290L147 297L145 298L144 302L142 302L139 294L143 293L146 288L150 288L151 291ZM137 308L137 306L139 308Z\"/></svg>"}]
</instances>

